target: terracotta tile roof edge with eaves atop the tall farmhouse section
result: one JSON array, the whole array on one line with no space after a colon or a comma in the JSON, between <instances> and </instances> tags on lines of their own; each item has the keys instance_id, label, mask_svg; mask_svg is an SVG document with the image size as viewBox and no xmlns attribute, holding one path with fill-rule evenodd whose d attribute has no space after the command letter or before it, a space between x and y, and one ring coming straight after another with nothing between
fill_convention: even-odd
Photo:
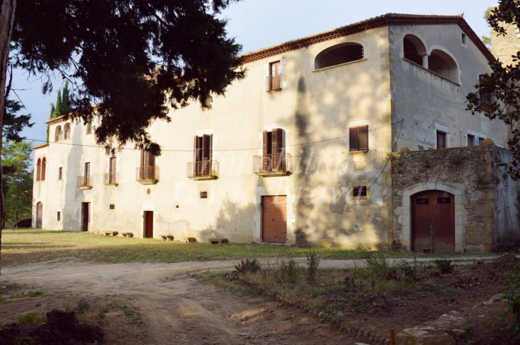
<instances>
[{"instance_id":1,"label":"terracotta tile roof edge with eaves atop the tall farmhouse section","mask_svg":"<svg viewBox=\"0 0 520 345\"><path fill-rule=\"evenodd\" d=\"M478 35L471 29L470 25L462 18L462 15L457 16L437 16L437 15L407 15L388 13L386 15L373 17L357 23L349 24L334 30L306 36L303 38L294 39L293 41L278 44L263 48L260 50L248 52L242 55L244 63L264 59L273 55L282 54L286 51L291 51L311 44L316 44L330 39L352 35L358 32L367 31L374 28L381 28L387 25L435 25L435 24L457 24L462 31L469 37L488 61L494 61L495 57L491 54L488 48L480 41Z\"/></svg>"}]
</instances>

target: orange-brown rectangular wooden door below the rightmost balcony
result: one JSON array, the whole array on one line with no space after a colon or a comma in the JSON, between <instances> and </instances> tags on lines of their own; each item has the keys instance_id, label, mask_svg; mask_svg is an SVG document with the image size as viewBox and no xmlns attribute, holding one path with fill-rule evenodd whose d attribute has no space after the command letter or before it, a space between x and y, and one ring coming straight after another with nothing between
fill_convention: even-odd
<instances>
[{"instance_id":1,"label":"orange-brown rectangular wooden door below the rightmost balcony","mask_svg":"<svg viewBox=\"0 0 520 345\"><path fill-rule=\"evenodd\" d=\"M262 196L262 241L287 242L287 195Z\"/></svg>"}]
</instances>

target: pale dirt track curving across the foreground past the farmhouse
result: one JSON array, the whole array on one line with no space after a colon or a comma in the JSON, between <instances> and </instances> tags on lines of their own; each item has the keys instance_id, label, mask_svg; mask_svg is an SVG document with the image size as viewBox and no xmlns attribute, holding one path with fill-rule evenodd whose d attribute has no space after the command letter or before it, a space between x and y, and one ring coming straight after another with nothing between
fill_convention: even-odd
<instances>
[{"instance_id":1,"label":"pale dirt track curving across the foreground past the farmhouse","mask_svg":"<svg viewBox=\"0 0 520 345\"><path fill-rule=\"evenodd\" d=\"M461 259L461 258L459 258ZM483 258L479 258L483 259ZM305 259L298 259L304 261ZM276 259L265 260L275 263ZM356 339L274 303L240 298L190 276L231 269L236 260L180 263L38 263L7 267L9 283L48 293L118 294L140 311L148 344L355 344ZM322 260L321 267L362 266L362 260Z\"/></svg>"}]
</instances>

